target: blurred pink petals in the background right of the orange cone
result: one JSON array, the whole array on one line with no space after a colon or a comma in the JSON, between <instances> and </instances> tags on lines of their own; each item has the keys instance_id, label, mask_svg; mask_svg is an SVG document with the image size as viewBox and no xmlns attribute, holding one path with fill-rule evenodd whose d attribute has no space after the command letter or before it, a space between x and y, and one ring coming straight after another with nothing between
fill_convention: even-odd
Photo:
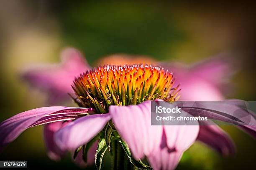
<instances>
[{"instance_id":1,"label":"blurred pink petals in the background right of the orange cone","mask_svg":"<svg viewBox=\"0 0 256 170\"><path fill-rule=\"evenodd\" d=\"M233 72L231 62L222 58L215 56L195 65L175 62L167 64L162 62L159 65L174 73L176 77L174 87L180 85L182 89L179 92L180 100L220 101L224 99L222 89Z\"/></svg>"}]
</instances>

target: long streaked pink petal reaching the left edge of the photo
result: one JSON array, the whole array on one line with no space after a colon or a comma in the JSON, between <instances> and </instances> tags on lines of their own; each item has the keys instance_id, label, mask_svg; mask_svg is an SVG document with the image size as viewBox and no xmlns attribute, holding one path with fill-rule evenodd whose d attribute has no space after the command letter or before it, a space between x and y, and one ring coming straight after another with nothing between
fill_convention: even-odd
<instances>
[{"instance_id":1,"label":"long streaked pink petal reaching the left edge of the photo","mask_svg":"<svg viewBox=\"0 0 256 170\"><path fill-rule=\"evenodd\" d=\"M15 140L27 128L49 122L73 120L94 113L92 108L41 107L19 113L0 123L0 150Z\"/></svg>"}]
</instances>

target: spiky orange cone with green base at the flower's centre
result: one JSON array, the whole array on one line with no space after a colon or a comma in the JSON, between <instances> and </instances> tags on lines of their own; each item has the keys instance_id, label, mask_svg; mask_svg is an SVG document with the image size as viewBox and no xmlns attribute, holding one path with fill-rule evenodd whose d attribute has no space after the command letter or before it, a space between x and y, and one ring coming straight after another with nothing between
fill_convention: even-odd
<instances>
[{"instance_id":1,"label":"spiky orange cone with green base at the flower's centre","mask_svg":"<svg viewBox=\"0 0 256 170\"><path fill-rule=\"evenodd\" d=\"M173 74L162 67L105 65L81 74L72 88L79 105L106 113L110 105L136 105L156 99L173 102L180 90L179 86L173 88L174 80Z\"/></svg>"}]
</instances>

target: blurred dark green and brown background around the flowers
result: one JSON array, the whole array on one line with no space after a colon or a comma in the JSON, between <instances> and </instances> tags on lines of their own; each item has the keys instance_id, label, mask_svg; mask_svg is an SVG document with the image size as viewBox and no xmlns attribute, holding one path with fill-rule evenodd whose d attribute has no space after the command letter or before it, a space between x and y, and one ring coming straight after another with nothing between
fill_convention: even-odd
<instances>
[{"instance_id":1,"label":"blurred dark green and brown background around the flowers","mask_svg":"<svg viewBox=\"0 0 256 170\"><path fill-rule=\"evenodd\" d=\"M0 1L0 121L45 106L44 93L31 90L19 73L33 63L59 62L63 47L81 50L91 65L114 53L149 55L155 60L193 63L229 53L237 72L227 98L256 101L256 20L254 3L183 1ZM256 143L232 126L223 126L237 154L221 157L196 143L178 169L253 169ZM30 168L72 168L70 155L54 162L45 152L42 128L26 130L0 153L0 160L27 160ZM104 169L110 160L104 159ZM91 167L94 168L93 166Z\"/></svg>"}]
</instances>

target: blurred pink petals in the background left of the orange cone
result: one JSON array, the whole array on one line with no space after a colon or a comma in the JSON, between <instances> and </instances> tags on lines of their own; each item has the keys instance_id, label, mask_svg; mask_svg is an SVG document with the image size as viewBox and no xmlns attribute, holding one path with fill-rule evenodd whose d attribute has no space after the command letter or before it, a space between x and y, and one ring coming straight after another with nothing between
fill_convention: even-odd
<instances>
[{"instance_id":1,"label":"blurred pink petals in the background left of the orange cone","mask_svg":"<svg viewBox=\"0 0 256 170\"><path fill-rule=\"evenodd\" d=\"M61 64L34 65L27 68L22 77L32 87L48 92L49 102L59 102L69 99L74 78L88 69L90 66L82 54L68 47L61 52Z\"/></svg>"}]
</instances>

